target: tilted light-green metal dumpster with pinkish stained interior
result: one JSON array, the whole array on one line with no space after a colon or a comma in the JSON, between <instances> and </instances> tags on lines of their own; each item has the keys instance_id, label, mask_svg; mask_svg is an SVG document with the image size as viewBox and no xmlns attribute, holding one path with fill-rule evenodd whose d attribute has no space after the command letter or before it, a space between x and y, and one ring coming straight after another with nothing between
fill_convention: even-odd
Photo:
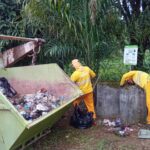
<instances>
[{"instance_id":1,"label":"tilted light-green metal dumpster with pinkish stained interior","mask_svg":"<svg viewBox=\"0 0 150 150\"><path fill-rule=\"evenodd\" d=\"M0 77L8 79L21 94L34 93L41 88L64 95L64 103L48 114L28 122L2 93L0 93L0 150L14 150L26 146L51 128L67 111L81 91L57 64L0 69Z\"/></svg>"}]
</instances>

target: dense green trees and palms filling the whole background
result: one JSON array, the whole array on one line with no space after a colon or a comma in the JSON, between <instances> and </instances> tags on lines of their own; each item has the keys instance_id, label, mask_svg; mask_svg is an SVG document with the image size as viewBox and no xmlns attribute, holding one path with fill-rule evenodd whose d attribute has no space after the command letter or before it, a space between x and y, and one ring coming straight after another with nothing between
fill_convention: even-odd
<instances>
[{"instance_id":1,"label":"dense green trees and palms filling the whole background","mask_svg":"<svg viewBox=\"0 0 150 150\"><path fill-rule=\"evenodd\" d=\"M46 40L38 64L56 62L69 73L71 59L78 58L97 73L107 73L108 60L118 65L124 46L138 45L135 67L150 71L144 59L150 47L147 0L0 0L0 17L0 33ZM8 45L13 43L0 43L2 50ZM122 74L122 66L113 72Z\"/></svg>"}]
</instances>

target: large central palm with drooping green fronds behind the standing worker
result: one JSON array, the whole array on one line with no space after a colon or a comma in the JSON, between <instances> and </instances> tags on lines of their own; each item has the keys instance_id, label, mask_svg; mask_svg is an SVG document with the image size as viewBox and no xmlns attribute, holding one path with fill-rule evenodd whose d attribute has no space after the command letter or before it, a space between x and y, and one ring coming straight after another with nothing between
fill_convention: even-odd
<instances>
[{"instance_id":1,"label":"large central palm with drooping green fronds behind the standing worker","mask_svg":"<svg viewBox=\"0 0 150 150\"><path fill-rule=\"evenodd\" d=\"M78 58L98 73L100 61L121 48L124 28L117 18L117 10L110 1L97 1L93 25L89 4L90 0L31 0L26 4L27 26L47 41L41 63L59 60L67 65L71 59Z\"/></svg>"}]
</instances>

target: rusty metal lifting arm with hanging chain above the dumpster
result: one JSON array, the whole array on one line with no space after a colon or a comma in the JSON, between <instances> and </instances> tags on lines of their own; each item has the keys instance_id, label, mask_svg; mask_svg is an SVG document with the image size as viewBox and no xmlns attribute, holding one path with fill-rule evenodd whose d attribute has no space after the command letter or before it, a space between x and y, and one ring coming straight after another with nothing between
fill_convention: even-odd
<instances>
[{"instance_id":1,"label":"rusty metal lifting arm with hanging chain above the dumpster","mask_svg":"<svg viewBox=\"0 0 150 150\"><path fill-rule=\"evenodd\" d=\"M30 53L31 51L33 51L33 54L31 56L32 56L32 64L34 65L36 61L36 55L39 53L35 51L36 48L40 48L40 46L46 42L44 39L41 38L26 38L1 34L0 40L17 40L28 42L26 44L8 49L3 53L0 53L0 68L12 66L14 63L18 62L24 56L28 55L28 53Z\"/></svg>"}]
</instances>

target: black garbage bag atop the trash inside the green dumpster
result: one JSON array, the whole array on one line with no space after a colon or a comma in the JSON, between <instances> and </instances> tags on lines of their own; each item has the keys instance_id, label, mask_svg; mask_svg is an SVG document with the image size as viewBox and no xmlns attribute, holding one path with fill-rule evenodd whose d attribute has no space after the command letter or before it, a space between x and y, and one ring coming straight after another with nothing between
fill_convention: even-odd
<instances>
[{"instance_id":1,"label":"black garbage bag atop the trash inside the green dumpster","mask_svg":"<svg viewBox=\"0 0 150 150\"><path fill-rule=\"evenodd\" d=\"M13 97L17 94L15 89L8 83L7 79L4 77L0 78L0 90L7 97Z\"/></svg>"}]
</instances>

